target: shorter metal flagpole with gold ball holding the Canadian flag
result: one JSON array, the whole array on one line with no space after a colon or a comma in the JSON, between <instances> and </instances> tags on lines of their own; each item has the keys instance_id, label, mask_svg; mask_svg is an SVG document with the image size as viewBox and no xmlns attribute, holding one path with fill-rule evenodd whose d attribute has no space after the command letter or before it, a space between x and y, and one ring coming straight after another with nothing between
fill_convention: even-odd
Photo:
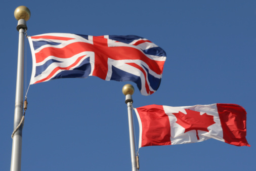
<instances>
[{"instance_id":1,"label":"shorter metal flagpole with gold ball holding the Canadian flag","mask_svg":"<svg viewBox=\"0 0 256 171\"><path fill-rule=\"evenodd\" d=\"M132 103L133 103L132 95L134 94L134 87L131 84L125 84L122 88L122 93L125 95L125 103L127 104L127 110L128 110L132 171L136 171L137 163L136 163L136 153L135 153L133 112L132 112Z\"/></svg>"}]
</instances>

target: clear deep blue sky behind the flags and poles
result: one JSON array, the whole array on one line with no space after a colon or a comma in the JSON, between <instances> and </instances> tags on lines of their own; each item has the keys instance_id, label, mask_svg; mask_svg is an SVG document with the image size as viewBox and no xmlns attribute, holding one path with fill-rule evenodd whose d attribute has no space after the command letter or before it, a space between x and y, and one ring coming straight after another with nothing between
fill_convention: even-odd
<instances>
[{"instance_id":1,"label":"clear deep blue sky behind the flags and poles","mask_svg":"<svg viewBox=\"0 0 256 171\"><path fill-rule=\"evenodd\" d=\"M10 170L21 5L28 35L50 32L145 37L167 54L161 85L142 96L133 82L98 77L33 84L22 139L21 170L131 170L126 83L134 107L234 103L247 111L247 140L140 148L140 170L254 170L255 1L4 1L0 6L0 170ZM26 87L31 51L26 40ZM135 112L134 112L135 114ZM136 143L139 127L134 115Z\"/></svg>"}]
</instances>

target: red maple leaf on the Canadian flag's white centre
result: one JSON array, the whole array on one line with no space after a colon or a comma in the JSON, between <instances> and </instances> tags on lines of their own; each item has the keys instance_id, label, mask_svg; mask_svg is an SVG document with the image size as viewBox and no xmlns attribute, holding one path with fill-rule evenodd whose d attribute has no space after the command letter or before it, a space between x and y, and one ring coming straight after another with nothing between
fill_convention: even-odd
<instances>
[{"instance_id":1,"label":"red maple leaf on the Canadian flag's white centre","mask_svg":"<svg viewBox=\"0 0 256 171\"><path fill-rule=\"evenodd\" d=\"M207 127L216 123L214 121L214 116L212 115L208 115L206 113L200 115L200 112L189 109L185 109L185 111L187 114L184 114L181 111L179 111L179 113L173 113L177 118L176 123L185 128L184 133L196 130L197 140L199 140L198 130L209 132Z\"/></svg>"}]
</instances>

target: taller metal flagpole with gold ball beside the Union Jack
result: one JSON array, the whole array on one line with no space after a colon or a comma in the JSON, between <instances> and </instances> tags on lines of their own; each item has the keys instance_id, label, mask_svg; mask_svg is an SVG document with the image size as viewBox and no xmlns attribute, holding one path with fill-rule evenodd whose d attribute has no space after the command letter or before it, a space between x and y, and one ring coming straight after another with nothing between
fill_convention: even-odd
<instances>
[{"instance_id":1,"label":"taller metal flagpole with gold ball beside the Union Jack","mask_svg":"<svg viewBox=\"0 0 256 171\"><path fill-rule=\"evenodd\" d=\"M24 36L27 30L26 21L30 18L30 11L25 6L19 6L14 11L14 16L18 20L17 30L19 31L18 63L16 79L16 95L14 110L14 130L19 125L23 112L23 85L24 85ZM13 136L11 171L21 170L21 145L22 126L19 127Z\"/></svg>"}]
</instances>

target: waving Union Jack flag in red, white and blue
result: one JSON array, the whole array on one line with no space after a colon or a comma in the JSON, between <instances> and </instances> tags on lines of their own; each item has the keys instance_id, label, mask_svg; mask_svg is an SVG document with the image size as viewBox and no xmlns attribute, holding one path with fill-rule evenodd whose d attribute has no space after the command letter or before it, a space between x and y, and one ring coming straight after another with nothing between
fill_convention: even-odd
<instances>
[{"instance_id":1,"label":"waving Union Jack flag in red, white and blue","mask_svg":"<svg viewBox=\"0 0 256 171\"><path fill-rule=\"evenodd\" d=\"M166 54L140 36L48 33L28 40L33 63L30 84L93 75L104 80L133 81L147 96L161 82Z\"/></svg>"}]
</instances>

